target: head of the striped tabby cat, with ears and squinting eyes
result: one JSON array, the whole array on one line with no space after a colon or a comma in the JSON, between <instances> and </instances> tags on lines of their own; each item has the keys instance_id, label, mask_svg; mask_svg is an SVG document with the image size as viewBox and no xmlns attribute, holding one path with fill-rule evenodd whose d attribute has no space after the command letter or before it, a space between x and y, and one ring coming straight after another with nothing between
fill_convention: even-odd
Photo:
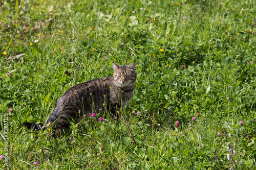
<instances>
[{"instance_id":1,"label":"head of the striped tabby cat, with ears and squinting eyes","mask_svg":"<svg viewBox=\"0 0 256 170\"><path fill-rule=\"evenodd\" d=\"M113 81L118 87L133 86L136 81L135 64L116 65L112 63L114 68Z\"/></svg>"}]
</instances>

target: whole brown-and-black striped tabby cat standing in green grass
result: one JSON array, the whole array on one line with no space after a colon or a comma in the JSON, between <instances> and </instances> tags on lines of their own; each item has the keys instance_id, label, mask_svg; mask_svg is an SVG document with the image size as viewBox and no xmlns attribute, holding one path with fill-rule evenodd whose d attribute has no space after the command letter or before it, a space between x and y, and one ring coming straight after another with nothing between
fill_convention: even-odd
<instances>
[{"instance_id":1,"label":"whole brown-and-black striped tabby cat standing in green grass","mask_svg":"<svg viewBox=\"0 0 256 170\"><path fill-rule=\"evenodd\" d=\"M90 80L77 84L57 101L50 117L43 123L23 123L28 129L42 130L46 125L57 122L54 127L54 138L62 131L68 131L70 121L79 122L90 113L107 109L115 119L119 119L119 112L131 100L136 81L135 64L116 65L112 63L114 74L112 77ZM43 128L44 127L44 128Z\"/></svg>"}]
</instances>

